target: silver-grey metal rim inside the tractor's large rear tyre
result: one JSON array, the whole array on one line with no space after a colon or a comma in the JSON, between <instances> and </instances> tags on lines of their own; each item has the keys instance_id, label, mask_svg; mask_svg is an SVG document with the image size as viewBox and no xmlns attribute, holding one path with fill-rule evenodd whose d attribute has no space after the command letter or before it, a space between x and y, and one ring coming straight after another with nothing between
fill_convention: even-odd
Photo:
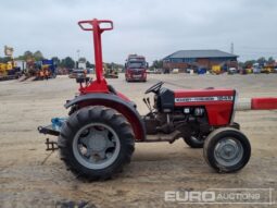
<instances>
[{"instance_id":1,"label":"silver-grey metal rim inside the tractor's large rear tyre","mask_svg":"<svg viewBox=\"0 0 277 208\"><path fill-rule=\"evenodd\" d=\"M121 142L113 129L103 123L81 127L73 140L73 154L88 169L104 169L117 158Z\"/></svg>"}]
</instances>

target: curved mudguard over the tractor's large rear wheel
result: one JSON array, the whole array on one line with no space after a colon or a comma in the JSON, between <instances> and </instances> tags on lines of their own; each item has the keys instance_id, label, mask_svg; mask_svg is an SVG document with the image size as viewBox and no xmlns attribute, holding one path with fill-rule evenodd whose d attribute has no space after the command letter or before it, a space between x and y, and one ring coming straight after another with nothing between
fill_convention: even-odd
<instances>
[{"instance_id":1,"label":"curved mudguard over the tractor's large rear wheel","mask_svg":"<svg viewBox=\"0 0 277 208\"><path fill-rule=\"evenodd\" d=\"M105 106L115 109L128 120L136 139L140 142L146 139L146 126L134 102L126 101L114 94L86 94L68 100L64 107L67 109L76 105L78 108L87 106Z\"/></svg>"}]
</instances>

